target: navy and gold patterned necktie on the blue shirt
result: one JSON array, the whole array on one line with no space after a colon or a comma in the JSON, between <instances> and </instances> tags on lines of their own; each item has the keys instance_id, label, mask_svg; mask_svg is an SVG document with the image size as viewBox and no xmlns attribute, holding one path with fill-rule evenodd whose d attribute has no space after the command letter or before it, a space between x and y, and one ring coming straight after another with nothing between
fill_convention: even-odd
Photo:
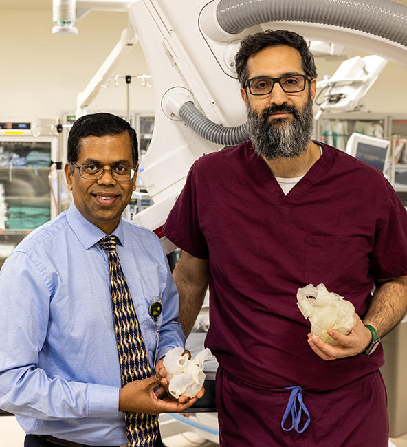
<instances>
[{"instance_id":1,"label":"navy and gold patterned necktie on the blue shirt","mask_svg":"<svg viewBox=\"0 0 407 447\"><path fill-rule=\"evenodd\" d=\"M122 386L133 380L150 377L151 367L140 326L135 314L129 286L116 252L117 237L105 236L99 244L109 258L111 298L116 341L118 343ZM153 447L158 434L157 416L142 413L124 413L129 447Z\"/></svg>"}]
</instances>

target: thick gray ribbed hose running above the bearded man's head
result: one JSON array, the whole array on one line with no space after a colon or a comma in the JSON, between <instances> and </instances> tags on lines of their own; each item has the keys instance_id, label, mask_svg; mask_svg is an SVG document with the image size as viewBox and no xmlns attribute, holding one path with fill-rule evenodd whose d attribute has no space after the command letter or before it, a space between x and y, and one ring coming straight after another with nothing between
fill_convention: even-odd
<instances>
[{"instance_id":1,"label":"thick gray ribbed hose running above the bearded man's head","mask_svg":"<svg viewBox=\"0 0 407 447\"><path fill-rule=\"evenodd\" d=\"M221 0L217 19L230 34L259 23L297 21L359 30L407 46L407 6L391 0Z\"/></svg>"}]
</instances>

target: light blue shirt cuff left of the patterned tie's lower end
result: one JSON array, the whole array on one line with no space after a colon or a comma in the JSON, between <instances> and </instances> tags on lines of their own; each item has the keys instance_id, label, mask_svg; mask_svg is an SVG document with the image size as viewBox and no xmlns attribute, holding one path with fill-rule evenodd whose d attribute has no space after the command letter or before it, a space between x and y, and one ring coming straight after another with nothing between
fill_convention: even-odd
<instances>
[{"instance_id":1,"label":"light blue shirt cuff left of the patterned tie's lower end","mask_svg":"<svg viewBox=\"0 0 407 447\"><path fill-rule=\"evenodd\" d=\"M88 384L87 417L117 417L119 414L119 389L115 386Z\"/></svg>"}]
</instances>

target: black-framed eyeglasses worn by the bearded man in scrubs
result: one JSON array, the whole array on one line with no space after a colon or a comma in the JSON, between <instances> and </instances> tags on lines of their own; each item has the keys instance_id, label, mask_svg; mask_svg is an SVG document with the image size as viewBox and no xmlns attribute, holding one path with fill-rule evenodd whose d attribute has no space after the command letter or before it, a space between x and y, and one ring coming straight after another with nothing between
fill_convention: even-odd
<instances>
[{"instance_id":1,"label":"black-framed eyeglasses worn by the bearded man in scrubs","mask_svg":"<svg viewBox=\"0 0 407 447\"><path fill-rule=\"evenodd\" d=\"M281 78L270 78L270 76L257 76L248 79L246 87L252 95L268 95L272 93L276 83L285 93L300 93L305 90L307 80L311 80L306 74L291 74L289 76L281 76Z\"/></svg>"}]
</instances>

